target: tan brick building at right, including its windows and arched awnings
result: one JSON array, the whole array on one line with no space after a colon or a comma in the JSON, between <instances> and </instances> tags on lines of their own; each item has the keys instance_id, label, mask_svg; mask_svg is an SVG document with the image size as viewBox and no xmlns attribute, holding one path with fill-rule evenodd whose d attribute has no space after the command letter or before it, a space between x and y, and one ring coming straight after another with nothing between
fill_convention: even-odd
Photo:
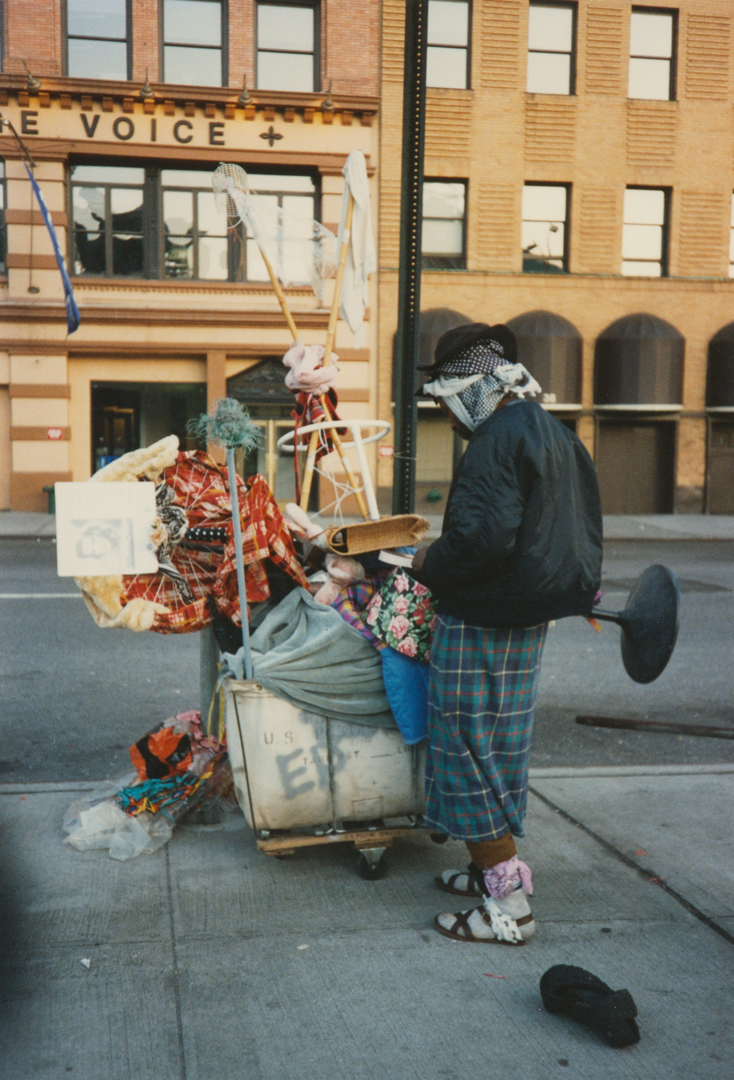
<instances>
[{"instance_id":1,"label":"tan brick building at right, including its windows and arched awnings","mask_svg":"<svg viewBox=\"0 0 734 1080\"><path fill-rule=\"evenodd\" d=\"M546 406L595 455L607 511L734 512L734 4L431 8L426 342L451 318L511 322ZM381 414L397 308L403 35L404 4L384 0ZM431 409L420 417L425 510L429 492L445 492L450 438Z\"/></svg>"}]
</instances>

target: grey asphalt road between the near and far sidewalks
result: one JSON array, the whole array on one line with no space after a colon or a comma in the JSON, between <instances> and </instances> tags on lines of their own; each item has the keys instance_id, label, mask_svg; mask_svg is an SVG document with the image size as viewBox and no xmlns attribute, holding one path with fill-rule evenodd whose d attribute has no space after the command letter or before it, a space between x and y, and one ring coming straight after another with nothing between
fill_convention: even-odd
<instances>
[{"instance_id":1,"label":"grey asphalt road between the near and far sidewalks","mask_svg":"<svg viewBox=\"0 0 734 1080\"><path fill-rule=\"evenodd\" d=\"M543 658L532 765L734 761L730 740L574 723L594 714L734 728L734 543L610 543L604 607L623 607L629 582L651 563L670 566L681 581L681 630L668 667L638 686L622 666L616 626L606 623L598 635L583 619L558 622ZM199 635L98 630L73 583L56 577L50 541L0 541L0 782L117 777L145 731L199 707Z\"/></svg>"}]
</instances>

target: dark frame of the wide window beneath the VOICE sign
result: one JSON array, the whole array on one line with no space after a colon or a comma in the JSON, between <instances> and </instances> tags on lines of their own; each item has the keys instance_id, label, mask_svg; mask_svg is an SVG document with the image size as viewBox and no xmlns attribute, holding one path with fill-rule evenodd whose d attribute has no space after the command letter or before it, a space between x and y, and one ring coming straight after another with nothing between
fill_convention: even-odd
<instances>
[{"instance_id":1,"label":"dark frame of the wide window beneath the VOICE sign","mask_svg":"<svg viewBox=\"0 0 734 1080\"><path fill-rule=\"evenodd\" d=\"M83 157L73 158L66 167L66 207L67 207L67 220L69 222L69 228L67 229L67 266L69 267L69 273L72 280L78 280L80 283L84 280L100 280L125 282L125 281L163 281L163 282L212 282L218 285L261 285L262 282L258 279L257 281L248 281L245 276L244 280L239 281L236 279L236 269L239 267L239 259L236 257L236 248L233 244L228 244L228 276L227 278L174 278L167 276L165 273L165 232L163 229L163 192L164 190L177 190L180 189L179 185L171 184L163 185L162 173L169 168L180 168L190 170L192 173L201 172L202 165L208 165L210 162L202 161L190 161L190 160L152 160L152 159L137 159L137 158L118 158L118 157ZM119 167L135 167L144 170L144 180L142 185L139 184L124 184L118 181L74 181L72 178L73 170L77 165L92 165L92 166L119 166ZM249 168L258 168L262 173L267 173L269 176L308 176L310 177L314 191L308 192L310 197L313 198L314 207L314 220L321 221L322 218L322 185L321 185L321 174L317 168L302 168L294 170L285 165L280 167L268 168L260 163L248 165ZM214 168L212 170L214 173ZM257 175L257 174L255 174ZM0 178L0 184L4 184L4 179ZM139 278L133 276L132 274L115 274L112 272L112 256L111 256L111 243L112 243L112 229L106 228L105 238L105 266L106 270L104 273L81 273L77 274L74 272L76 267L76 229L74 229L74 217L73 217L73 188L74 187L105 187L105 213L106 213L106 226L107 226L107 207L109 205L109 199L107 195L108 188L123 188L123 189L140 189L142 188L142 273ZM201 187L186 188L184 190L188 191L201 191ZM257 189L254 188L254 191ZM275 192L262 192L263 194L277 194L280 198L283 195L297 195L298 191L288 191L286 189L277 189ZM111 224L111 222L110 222ZM225 227L225 233L227 234L227 227ZM196 237L196 239L199 239ZM245 254L246 260L246 254ZM194 267L199 265L199 254L195 254ZM246 262L245 262L246 267ZM246 272L246 270L245 270Z\"/></svg>"}]
</instances>

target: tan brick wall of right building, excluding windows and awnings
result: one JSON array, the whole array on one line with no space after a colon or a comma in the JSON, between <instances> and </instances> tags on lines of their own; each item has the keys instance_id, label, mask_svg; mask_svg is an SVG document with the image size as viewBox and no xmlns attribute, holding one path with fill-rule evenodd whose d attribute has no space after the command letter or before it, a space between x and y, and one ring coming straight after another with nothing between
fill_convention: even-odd
<instances>
[{"instance_id":1,"label":"tan brick wall of right building, excluding windows and awnings","mask_svg":"<svg viewBox=\"0 0 734 1080\"><path fill-rule=\"evenodd\" d=\"M392 268L398 260L403 6L384 0L382 16L380 363L385 388L397 314ZM691 492L704 484L708 341L734 318L734 281L726 276L734 189L734 3L681 0L676 6L677 100L648 102L627 98L629 3L580 0L575 95L562 96L526 93L527 0L474 0L472 87L429 90L426 107L426 175L468 183L467 269L424 272L421 308L450 307L490 323L536 309L569 319L584 341L588 410L598 335L638 311L672 323L687 339L677 483L679 491ZM527 180L571 185L568 276L519 272L520 195ZM621 275L628 185L672 191L668 279ZM388 393L382 393L385 404ZM580 419L579 431L592 448L590 411ZM390 483L390 472L383 463L381 483Z\"/></svg>"}]
</instances>

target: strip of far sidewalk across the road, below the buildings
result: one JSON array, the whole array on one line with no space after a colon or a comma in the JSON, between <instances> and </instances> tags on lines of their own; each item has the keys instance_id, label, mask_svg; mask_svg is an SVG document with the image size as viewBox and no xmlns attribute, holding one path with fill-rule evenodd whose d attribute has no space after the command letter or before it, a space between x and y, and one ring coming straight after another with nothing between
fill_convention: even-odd
<instances>
[{"instance_id":1,"label":"strip of far sidewalk across the road, below the buildings","mask_svg":"<svg viewBox=\"0 0 734 1080\"><path fill-rule=\"evenodd\" d=\"M429 538L440 535L443 514L426 514ZM356 522L358 518L345 518ZM325 521L324 526L331 525ZM0 511L0 539L56 536L53 514ZM724 514L604 514L606 540L734 540L734 516Z\"/></svg>"}]
</instances>

